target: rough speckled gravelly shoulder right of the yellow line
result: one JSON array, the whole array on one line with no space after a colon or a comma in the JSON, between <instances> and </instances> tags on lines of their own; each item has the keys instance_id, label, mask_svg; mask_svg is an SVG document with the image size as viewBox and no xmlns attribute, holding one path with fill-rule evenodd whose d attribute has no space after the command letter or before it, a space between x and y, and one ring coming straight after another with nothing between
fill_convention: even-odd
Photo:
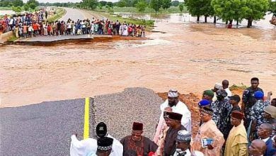
<instances>
[{"instance_id":1,"label":"rough speckled gravelly shoulder right of the yellow line","mask_svg":"<svg viewBox=\"0 0 276 156\"><path fill-rule=\"evenodd\" d=\"M131 134L133 122L144 123L144 136L152 139L162 102L151 89L127 88L120 93L96 96L93 116L96 123L106 123L108 133L118 140Z\"/></svg>"}]
</instances>

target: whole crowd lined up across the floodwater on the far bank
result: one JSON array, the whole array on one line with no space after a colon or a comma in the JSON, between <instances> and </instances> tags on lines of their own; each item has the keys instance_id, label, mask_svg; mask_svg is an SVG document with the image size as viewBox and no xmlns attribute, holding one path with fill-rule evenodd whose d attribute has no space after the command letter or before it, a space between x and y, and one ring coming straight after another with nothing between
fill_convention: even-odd
<instances>
[{"instance_id":1,"label":"whole crowd lined up across the floodwater on the far bank","mask_svg":"<svg viewBox=\"0 0 276 156\"><path fill-rule=\"evenodd\" d=\"M47 11L46 11L47 12ZM123 35L146 37L146 26L132 23L120 23L119 21L109 21L108 19L89 19L72 21L47 22L45 16L40 13L26 13L22 16L4 17L0 23L0 33L13 30L16 38L33 38L38 35Z\"/></svg>"}]
</instances>

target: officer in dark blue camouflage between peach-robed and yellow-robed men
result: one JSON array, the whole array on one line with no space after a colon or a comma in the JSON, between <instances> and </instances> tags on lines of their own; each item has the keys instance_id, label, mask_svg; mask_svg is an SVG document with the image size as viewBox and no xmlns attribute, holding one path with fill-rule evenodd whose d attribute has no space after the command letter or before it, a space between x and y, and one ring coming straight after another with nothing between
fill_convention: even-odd
<instances>
[{"instance_id":1,"label":"officer in dark blue camouflage between peach-robed and yellow-robed men","mask_svg":"<svg viewBox=\"0 0 276 156\"><path fill-rule=\"evenodd\" d=\"M229 112L231 111L231 104L229 104L229 101L225 99L226 96L226 91L219 89L217 91L217 100L211 105L211 108L214 111L212 119L222 133L225 129L224 126L226 125L227 116L229 116Z\"/></svg>"}]
</instances>

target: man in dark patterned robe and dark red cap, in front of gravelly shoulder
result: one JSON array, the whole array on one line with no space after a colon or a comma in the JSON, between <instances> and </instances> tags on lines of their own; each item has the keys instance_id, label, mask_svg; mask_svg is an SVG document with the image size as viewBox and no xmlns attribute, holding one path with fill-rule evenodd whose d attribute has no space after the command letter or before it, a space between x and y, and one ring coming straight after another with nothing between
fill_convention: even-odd
<instances>
[{"instance_id":1,"label":"man in dark patterned robe and dark red cap, in front of gravelly shoulder","mask_svg":"<svg viewBox=\"0 0 276 156\"><path fill-rule=\"evenodd\" d=\"M156 152L158 147L156 143L144 137L142 133L143 123L134 122L132 125L132 135L128 135L120 141L124 146L124 156L148 155L149 152Z\"/></svg>"}]
</instances>

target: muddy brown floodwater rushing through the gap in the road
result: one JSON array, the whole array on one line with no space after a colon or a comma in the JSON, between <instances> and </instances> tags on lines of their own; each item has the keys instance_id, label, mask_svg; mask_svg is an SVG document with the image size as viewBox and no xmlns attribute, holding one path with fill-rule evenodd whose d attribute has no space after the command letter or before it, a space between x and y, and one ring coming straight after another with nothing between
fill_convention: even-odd
<instances>
[{"instance_id":1,"label":"muddy brown floodwater rushing through the gap in the road","mask_svg":"<svg viewBox=\"0 0 276 156\"><path fill-rule=\"evenodd\" d=\"M276 94L275 28L226 29L171 16L156 21L155 30L166 33L151 33L150 40L0 47L0 107L126 87L201 94L223 79L249 85L251 77Z\"/></svg>"}]
</instances>

